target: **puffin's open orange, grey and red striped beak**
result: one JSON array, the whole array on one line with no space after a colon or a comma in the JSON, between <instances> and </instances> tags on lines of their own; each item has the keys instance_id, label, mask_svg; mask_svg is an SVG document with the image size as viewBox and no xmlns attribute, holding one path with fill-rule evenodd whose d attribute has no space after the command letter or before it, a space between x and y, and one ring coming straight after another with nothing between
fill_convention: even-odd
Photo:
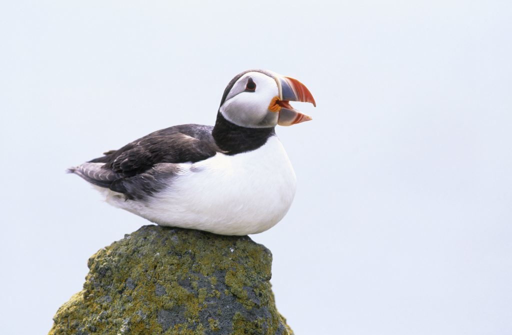
<instances>
[{"instance_id":1,"label":"puffin's open orange, grey and red striped beak","mask_svg":"<svg viewBox=\"0 0 512 335\"><path fill-rule=\"evenodd\" d=\"M279 125L292 125L311 120L290 105L290 101L311 102L316 107L315 99L308 88L295 78L278 76L275 80L279 87L279 97L274 97L269 110L279 113Z\"/></svg>"}]
</instances>

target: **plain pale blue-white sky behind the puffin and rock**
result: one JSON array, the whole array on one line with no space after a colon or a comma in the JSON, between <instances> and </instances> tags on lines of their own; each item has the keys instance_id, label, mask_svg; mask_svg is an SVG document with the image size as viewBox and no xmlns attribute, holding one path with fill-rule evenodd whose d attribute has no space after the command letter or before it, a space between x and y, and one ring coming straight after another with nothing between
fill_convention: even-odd
<instances>
[{"instance_id":1,"label":"plain pale blue-white sky behind the puffin and rock","mask_svg":"<svg viewBox=\"0 0 512 335\"><path fill-rule=\"evenodd\" d=\"M2 334L45 334L87 260L148 221L68 166L213 124L237 73L304 82L298 190L251 236L297 335L512 333L512 2L0 5Z\"/></svg>"}]
</instances>

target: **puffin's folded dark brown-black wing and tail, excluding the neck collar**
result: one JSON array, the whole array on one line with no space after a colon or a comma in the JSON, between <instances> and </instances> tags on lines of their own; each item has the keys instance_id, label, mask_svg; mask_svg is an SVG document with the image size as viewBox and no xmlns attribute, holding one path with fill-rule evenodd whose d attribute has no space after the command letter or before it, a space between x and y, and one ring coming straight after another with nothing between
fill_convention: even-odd
<instances>
[{"instance_id":1,"label":"puffin's folded dark brown-black wing and tail, excluding the neck collar","mask_svg":"<svg viewBox=\"0 0 512 335\"><path fill-rule=\"evenodd\" d=\"M175 164L198 162L221 152L211 130L212 127L199 124L162 129L69 172L123 193L128 199L143 199L163 187L163 178L176 174Z\"/></svg>"}]
</instances>

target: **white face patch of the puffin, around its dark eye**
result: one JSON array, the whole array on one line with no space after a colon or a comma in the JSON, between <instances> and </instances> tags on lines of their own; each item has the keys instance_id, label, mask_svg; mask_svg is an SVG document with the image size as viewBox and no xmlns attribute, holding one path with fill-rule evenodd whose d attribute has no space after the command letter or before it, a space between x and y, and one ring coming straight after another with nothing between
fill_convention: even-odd
<instances>
[{"instance_id":1,"label":"white face patch of the puffin, around its dark eye","mask_svg":"<svg viewBox=\"0 0 512 335\"><path fill-rule=\"evenodd\" d=\"M252 83L255 85L253 91ZM220 112L228 121L241 127L275 127L279 115L268 110L275 96L279 96L279 87L273 77L261 72L248 72L233 85Z\"/></svg>"}]
</instances>

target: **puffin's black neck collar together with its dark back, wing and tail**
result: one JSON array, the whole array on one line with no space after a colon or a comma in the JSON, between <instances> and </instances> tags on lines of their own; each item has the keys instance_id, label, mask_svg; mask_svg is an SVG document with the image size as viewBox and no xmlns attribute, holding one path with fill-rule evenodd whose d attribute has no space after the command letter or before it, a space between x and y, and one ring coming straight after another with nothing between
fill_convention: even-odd
<instances>
[{"instance_id":1,"label":"puffin's black neck collar together with its dark back, wing and tail","mask_svg":"<svg viewBox=\"0 0 512 335\"><path fill-rule=\"evenodd\" d=\"M143 200L162 190L161 180L178 172L176 164L255 150L274 134L274 128L240 127L219 113L215 127L183 124L158 130L88 162L101 164L84 163L69 172L126 199Z\"/></svg>"}]
</instances>

